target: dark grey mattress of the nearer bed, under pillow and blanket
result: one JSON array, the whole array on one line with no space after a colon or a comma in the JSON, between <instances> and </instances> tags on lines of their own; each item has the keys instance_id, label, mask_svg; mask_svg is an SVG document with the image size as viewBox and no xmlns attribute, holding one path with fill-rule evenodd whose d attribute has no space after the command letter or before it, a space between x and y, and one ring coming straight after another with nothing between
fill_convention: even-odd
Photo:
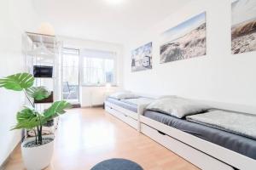
<instances>
[{"instance_id":1,"label":"dark grey mattress of the nearer bed, under pillow and blanket","mask_svg":"<svg viewBox=\"0 0 256 170\"><path fill-rule=\"evenodd\" d=\"M188 122L160 112L145 111L144 116L256 160L256 140L235 133L225 132L214 127Z\"/></svg>"}]
</instances>

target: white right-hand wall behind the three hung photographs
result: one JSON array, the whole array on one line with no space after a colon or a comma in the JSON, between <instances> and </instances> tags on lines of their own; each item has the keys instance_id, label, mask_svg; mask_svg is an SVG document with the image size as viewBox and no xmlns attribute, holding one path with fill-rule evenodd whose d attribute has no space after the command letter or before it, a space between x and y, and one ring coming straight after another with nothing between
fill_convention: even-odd
<instances>
[{"instance_id":1,"label":"white right-hand wall behind the three hung photographs","mask_svg":"<svg viewBox=\"0 0 256 170\"><path fill-rule=\"evenodd\" d=\"M231 54L230 5L230 0L194 0L126 43L125 89L255 106L256 52ZM207 56L160 64L160 33L203 11L207 11ZM131 50L151 41L153 69L131 72Z\"/></svg>"}]
</instances>

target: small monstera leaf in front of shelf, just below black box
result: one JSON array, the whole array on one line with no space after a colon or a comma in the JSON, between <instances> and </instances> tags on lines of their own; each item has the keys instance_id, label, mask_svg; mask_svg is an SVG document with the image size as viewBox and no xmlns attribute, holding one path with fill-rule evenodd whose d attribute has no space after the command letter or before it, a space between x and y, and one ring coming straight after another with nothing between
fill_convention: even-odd
<instances>
[{"instance_id":1,"label":"small monstera leaf in front of shelf, just below black box","mask_svg":"<svg viewBox=\"0 0 256 170\"><path fill-rule=\"evenodd\" d=\"M27 88L26 93L35 100L46 99L50 95L50 92L43 86Z\"/></svg>"}]
</instances>

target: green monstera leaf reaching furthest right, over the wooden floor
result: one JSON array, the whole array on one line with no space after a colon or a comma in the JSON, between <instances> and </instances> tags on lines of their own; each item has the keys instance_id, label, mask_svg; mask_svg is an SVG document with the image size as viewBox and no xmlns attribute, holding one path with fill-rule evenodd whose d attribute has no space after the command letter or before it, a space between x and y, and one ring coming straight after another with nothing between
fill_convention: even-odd
<instances>
[{"instance_id":1,"label":"green monstera leaf reaching furthest right, over the wooden floor","mask_svg":"<svg viewBox=\"0 0 256 170\"><path fill-rule=\"evenodd\" d=\"M67 101L62 100L62 101L56 101L47 109L44 111L44 122L47 122L56 116L59 116L61 114L64 114L66 111L65 109L72 108L72 105L70 105Z\"/></svg>"}]
</instances>

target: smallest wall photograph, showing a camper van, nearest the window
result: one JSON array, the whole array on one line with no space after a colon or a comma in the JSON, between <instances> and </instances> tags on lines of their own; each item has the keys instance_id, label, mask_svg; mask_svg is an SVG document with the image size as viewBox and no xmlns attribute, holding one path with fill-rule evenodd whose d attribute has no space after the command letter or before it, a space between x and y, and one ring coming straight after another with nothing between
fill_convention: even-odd
<instances>
[{"instance_id":1,"label":"smallest wall photograph, showing a camper van, nearest the window","mask_svg":"<svg viewBox=\"0 0 256 170\"><path fill-rule=\"evenodd\" d=\"M152 69L152 42L131 52L131 71Z\"/></svg>"}]
</instances>

